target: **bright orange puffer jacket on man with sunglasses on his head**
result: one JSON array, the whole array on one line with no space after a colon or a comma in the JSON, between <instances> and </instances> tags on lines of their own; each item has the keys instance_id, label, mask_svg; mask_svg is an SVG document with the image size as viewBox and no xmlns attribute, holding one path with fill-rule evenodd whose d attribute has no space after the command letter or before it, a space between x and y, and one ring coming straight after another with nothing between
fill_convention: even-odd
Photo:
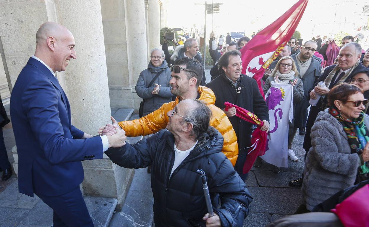
<instances>
[{"instance_id":1,"label":"bright orange puffer jacket on man with sunglasses on his head","mask_svg":"<svg viewBox=\"0 0 369 227\"><path fill-rule=\"evenodd\" d=\"M227 156L234 166L236 164L238 155L238 145L237 136L232 128L232 124L225 113L218 107L214 106L215 95L210 88L199 86L198 91L200 93L199 100L206 103L213 113L213 117L210 120L210 125L216 128L223 135L224 143L222 152L225 156ZM178 102L179 97L177 96L175 101L164 103L159 109L146 115L145 117L141 117L133 121L121 121L118 124L124 129L126 136L135 137L153 134L166 128L166 125L169 122L167 113L174 109Z\"/></svg>"}]
</instances>

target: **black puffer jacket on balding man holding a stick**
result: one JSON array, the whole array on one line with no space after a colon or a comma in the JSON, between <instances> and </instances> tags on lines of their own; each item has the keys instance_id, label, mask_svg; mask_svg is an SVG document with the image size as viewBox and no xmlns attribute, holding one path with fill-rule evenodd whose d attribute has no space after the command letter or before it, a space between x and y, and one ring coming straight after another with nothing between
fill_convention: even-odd
<instances>
[{"instance_id":1,"label":"black puffer jacket on balding man holding a stick","mask_svg":"<svg viewBox=\"0 0 369 227\"><path fill-rule=\"evenodd\" d=\"M205 226L202 217L207 208L202 174L206 175L213 209L219 215L222 226L242 226L252 198L230 160L221 152L223 137L211 128L198 141L170 179L175 151L174 136L169 131L160 131L136 144L127 143L105 153L115 164L125 168L138 169L151 165L155 226ZM217 194L222 203L219 209Z\"/></svg>"}]
</instances>

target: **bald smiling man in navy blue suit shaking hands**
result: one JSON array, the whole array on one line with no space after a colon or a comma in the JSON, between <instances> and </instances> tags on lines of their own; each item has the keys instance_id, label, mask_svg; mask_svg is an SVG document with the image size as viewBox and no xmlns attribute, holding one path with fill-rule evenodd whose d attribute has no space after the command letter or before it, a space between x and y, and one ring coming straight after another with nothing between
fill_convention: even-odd
<instances>
[{"instance_id":1,"label":"bald smiling man in navy blue suit shaking hands","mask_svg":"<svg viewBox=\"0 0 369 227\"><path fill-rule=\"evenodd\" d=\"M20 72L10 98L18 152L19 192L36 194L54 210L54 227L93 226L79 185L82 160L101 159L123 136L94 136L71 124L70 105L55 77L76 58L72 33L55 22L38 29L35 55ZM117 142L119 141L119 142Z\"/></svg>"}]
</instances>

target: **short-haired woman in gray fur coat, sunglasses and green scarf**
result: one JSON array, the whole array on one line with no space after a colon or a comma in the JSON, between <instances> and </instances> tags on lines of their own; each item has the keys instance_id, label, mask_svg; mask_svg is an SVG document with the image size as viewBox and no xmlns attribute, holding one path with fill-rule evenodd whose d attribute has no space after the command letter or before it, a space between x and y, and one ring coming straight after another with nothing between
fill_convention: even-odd
<instances>
[{"instance_id":1,"label":"short-haired woman in gray fur coat, sunglasses and green scarf","mask_svg":"<svg viewBox=\"0 0 369 227\"><path fill-rule=\"evenodd\" d=\"M368 99L352 84L340 84L328 93L329 108L321 111L311 128L302 185L303 205L296 213L368 177L369 117L363 110ZM304 207L306 205L306 208Z\"/></svg>"}]
</instances>

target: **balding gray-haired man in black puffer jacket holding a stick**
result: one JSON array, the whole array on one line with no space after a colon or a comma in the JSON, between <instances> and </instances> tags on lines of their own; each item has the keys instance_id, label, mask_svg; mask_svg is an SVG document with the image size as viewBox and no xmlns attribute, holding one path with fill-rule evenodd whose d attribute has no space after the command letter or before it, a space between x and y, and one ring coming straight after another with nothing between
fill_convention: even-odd
<instances>
[{"instance_id":1,"label":"balding gray-haired man in black puffer jacket holding a stick","mask_svg":"<svg viewBox=\"0 0 369 227\"><path fill-rule=\"evenodd\" d=\"M241 227L249 213L251 195L221 153L223 137L210 127L212 113L200 100L182 100L166 113L168 130L105 152L115 164L125 168L152 165L156 226ZM124 130L115 129L125 138ZM202 175L207 178L214 209L212 217L207 211Z\"/></svg>"}]
</instances>

